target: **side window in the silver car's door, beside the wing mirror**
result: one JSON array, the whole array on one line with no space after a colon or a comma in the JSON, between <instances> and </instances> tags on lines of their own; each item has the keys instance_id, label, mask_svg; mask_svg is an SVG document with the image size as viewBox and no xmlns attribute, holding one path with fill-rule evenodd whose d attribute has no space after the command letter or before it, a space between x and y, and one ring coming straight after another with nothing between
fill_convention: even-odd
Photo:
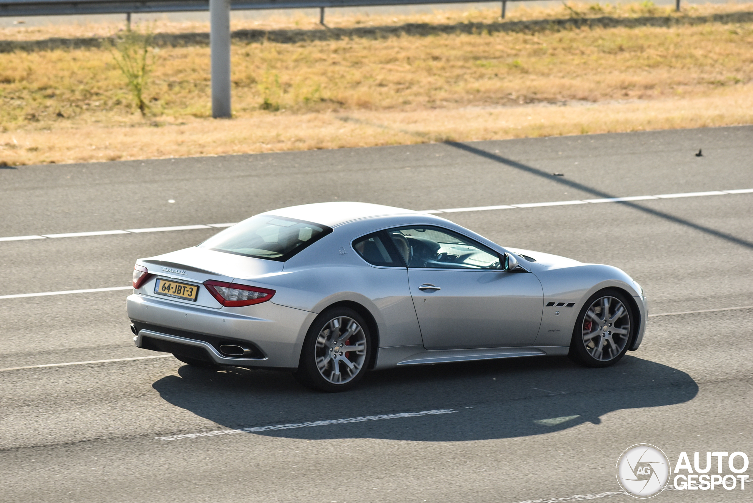
<instances>
[{"instance_id":1,"label":"side window in the silver car's door, beside the wing mirror","mask_svg":"<svg viewBox=\"0 0 753 503\"><path fill-rule=\"evenodd\" d=\"M472 239L441 227L399 227L387 231L408 267L502 269L499 255Z\"/></svg>"}]
</instances>

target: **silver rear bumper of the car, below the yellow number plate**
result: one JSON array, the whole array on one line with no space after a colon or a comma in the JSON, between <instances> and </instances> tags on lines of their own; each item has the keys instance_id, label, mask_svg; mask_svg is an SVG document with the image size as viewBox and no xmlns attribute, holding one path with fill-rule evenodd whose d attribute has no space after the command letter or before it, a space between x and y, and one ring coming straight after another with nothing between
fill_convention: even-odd
<instances>
[{"instance_id":1,"label":"silver rear bumper of the car, below the yellow number plate","mask_svg":"<svg viewBox=\"0 0 753 503\"><path fill-rule=\"evenodd\" d=\"M306 329L316 318L271 302L209 309L140 294L128 297L127 309L136 346L239 367L297 368ZM245 342L258 351L250 358L229 358L218 351L217 340Z\"/></svg>"}]
</instances>

